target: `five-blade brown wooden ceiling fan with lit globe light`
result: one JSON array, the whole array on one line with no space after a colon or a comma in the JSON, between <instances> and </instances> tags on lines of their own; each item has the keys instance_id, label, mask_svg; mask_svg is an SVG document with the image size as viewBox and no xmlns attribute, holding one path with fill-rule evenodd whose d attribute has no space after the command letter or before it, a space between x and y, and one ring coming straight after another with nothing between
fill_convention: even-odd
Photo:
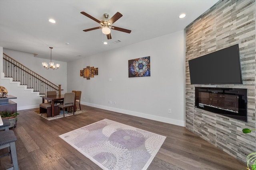
<instances>
[{"instance_id":1,"label":"five-blade brown wooden ceiling fan with lit globe light","mask_svg":"<svg viewBox=\"0 0 256 170\"><path fill-rule=\"evenodd\" d=\"M112 38L111 34L110 34L111 29L114 29L116 31L122 31L122 32L125 32L125 33L130 33L131 32L131 30L129 30L129 29L124 29L124 28L112 26L112 24L115 21L117 21L119 18L121 18L123 16L119 12L116 12L116 14L114 16L112 16L112 18L110 18L109 20L108 20L109 15L108 14L103 14L104 19L102 21L97 20L96 18L90 16L89 14L87 14L85 12L80 12L80 13L87 16L88 18L100 23L100 25L101 25L101 27L94 27L94 28L84 29L83 31L92 31L94 29L102 28L102 33L106 34L108 39Z\"/></svg>"}]
</instances>

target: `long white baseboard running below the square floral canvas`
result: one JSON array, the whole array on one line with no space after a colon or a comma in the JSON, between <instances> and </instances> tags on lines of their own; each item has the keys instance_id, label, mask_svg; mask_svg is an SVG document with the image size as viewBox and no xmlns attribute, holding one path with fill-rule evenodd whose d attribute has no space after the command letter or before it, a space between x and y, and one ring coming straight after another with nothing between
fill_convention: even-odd
<instances>
[{"instance_id":1,"label":"long white baseboard running below the square floral canvas","mask_svg":"<svg viewBox=\"0 0 256 170\"><path fill-rule=\"evenodd\" d=\"M132 116L142 117L142 118L146 118L146 119L150 119L150 120L169 123L169 124L172 124L172 125L178 125L178 126L183 126L183 127L185 127L185 125L186 125L185 121L170 119L170 118L166 118L166 117L148 115L148 114L139 113L139 112L136 112L136 111L129 111L129 110L118 109L118 108L108 107L108 106L101 106L101 105L96 105L96 104L91 104L91 103L86 103L86 102L81 102L81 104L86 105L86 106L96 107L96 108L99 108L99 109L105 109L105 110L109 110L109 111L115 111L115 112L118 112L118 113L124 113L124 114L127 114L127 115L132 115Z\"/></svg>"}]
</instances>

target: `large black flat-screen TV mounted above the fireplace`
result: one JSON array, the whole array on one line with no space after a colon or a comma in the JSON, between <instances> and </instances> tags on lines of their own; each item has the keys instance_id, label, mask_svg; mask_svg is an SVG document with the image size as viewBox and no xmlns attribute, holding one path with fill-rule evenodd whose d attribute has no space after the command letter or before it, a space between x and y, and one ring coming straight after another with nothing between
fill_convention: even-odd
<instances>
[{"instance_id":1,"label":"large black flat-screen TV mounted above the fireplace","mask_svg":"<svg viewBox=\"0 0 256 170\"><path fill-rule=\"evenodd\" d=\"M188 61L191 84L242 84L239 45Z\"/></svg>"}]
</instances>

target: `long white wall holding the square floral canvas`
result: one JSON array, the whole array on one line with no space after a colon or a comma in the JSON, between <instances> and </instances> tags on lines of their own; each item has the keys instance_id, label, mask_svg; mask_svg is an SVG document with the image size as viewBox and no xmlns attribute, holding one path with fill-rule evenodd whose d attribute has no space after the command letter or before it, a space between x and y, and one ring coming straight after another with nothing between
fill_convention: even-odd
<instances>
[{"instance_id":1,"label":"long white wall holding the square floral canvas","mask_svg":"<svg viewBox=\"0 0 256 170\"><path fill-rule=\"evenodd\" d=\"M148 56L151 76L128 78L128 60ZM86 66L99 75L80 77ZM183 30L69 62L67 70L67 90L82 90L82 104L185 126Z\"/></svg>"}]
</instances>

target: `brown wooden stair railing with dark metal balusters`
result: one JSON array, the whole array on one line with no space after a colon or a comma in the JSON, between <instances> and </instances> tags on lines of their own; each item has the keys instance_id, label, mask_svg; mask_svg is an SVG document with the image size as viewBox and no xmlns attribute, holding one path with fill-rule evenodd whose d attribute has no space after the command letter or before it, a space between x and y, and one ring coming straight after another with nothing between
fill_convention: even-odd
<instances>
[{"instance_id":1,"label":"brown wooden stair railing with dark metal balusters","mask_svg":"<svg viewBox=\"0 0 256 170\"><path fill-rule=\"evenodd\" d=\"M61 94L61 85L53 84L5 53L3 54L3 71L4 77L12 77L13 81L27 85L27 88L34 88L34 92L39 94L46 94L47 91L57 91L57 94Z\"/></svg>"}]
</instances>

